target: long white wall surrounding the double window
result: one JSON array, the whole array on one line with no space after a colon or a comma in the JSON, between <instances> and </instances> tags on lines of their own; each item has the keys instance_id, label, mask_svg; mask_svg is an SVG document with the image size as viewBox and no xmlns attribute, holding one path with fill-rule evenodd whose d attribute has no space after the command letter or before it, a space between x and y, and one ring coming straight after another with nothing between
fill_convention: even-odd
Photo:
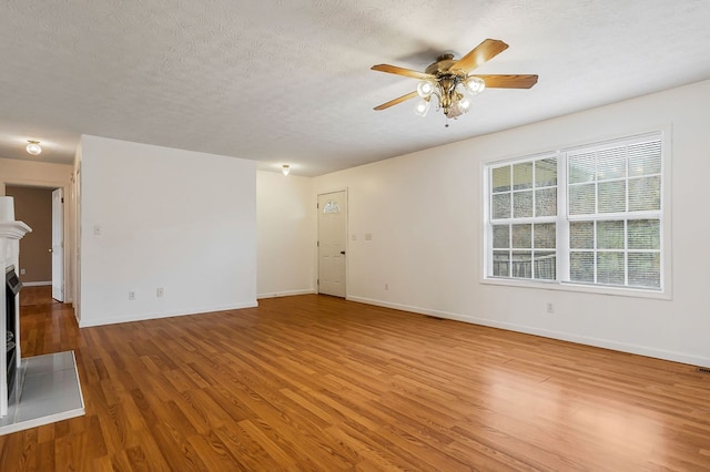
<instances>
[{"instance_id":1,"label":"long white wall surrounding the double window","mask_svg":"<svg viewBox=\"0 0 710 472\"><path fill-rule=\"evenodd\" d=\"M316 177L314 195L348 188L348 298L710 366L708 110L710 81ZM475 114L454 124L475 125ZM661 127L672 130L671 300L480 283L481 163Z\"/></svg>"}]
</instances>

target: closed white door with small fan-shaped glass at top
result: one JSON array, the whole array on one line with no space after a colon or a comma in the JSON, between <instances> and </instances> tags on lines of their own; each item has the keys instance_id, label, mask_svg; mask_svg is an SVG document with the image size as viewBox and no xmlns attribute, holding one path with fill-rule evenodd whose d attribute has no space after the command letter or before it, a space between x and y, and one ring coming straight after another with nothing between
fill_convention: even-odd
<instances>
[{"instance_id":1,"label":"closed white door with small fan-shaped glass at top","mask_svg":"<svg viewBox=\"0 0 710 472\"><path fill-rule=\"evenodd\" d=\"M345 191L318 195L318 294L345 297Z\"/></svg>"}]
</instances>

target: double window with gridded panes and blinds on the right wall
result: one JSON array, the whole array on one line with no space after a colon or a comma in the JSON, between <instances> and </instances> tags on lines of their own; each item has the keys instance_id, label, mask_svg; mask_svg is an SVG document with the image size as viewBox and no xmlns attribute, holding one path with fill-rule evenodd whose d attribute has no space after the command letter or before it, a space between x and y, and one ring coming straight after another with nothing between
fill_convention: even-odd
<instances>
[{"instance_id":1,"label":"double window with gridded panes and blinds on the right wall","mask_svg":"<svg viewBox=\"0 0 710 472\"><path fill-rule=\"evenodd\" d=\"M661 290L660 133L486 167L486 278Z\"/></svg>"}]
</instances>

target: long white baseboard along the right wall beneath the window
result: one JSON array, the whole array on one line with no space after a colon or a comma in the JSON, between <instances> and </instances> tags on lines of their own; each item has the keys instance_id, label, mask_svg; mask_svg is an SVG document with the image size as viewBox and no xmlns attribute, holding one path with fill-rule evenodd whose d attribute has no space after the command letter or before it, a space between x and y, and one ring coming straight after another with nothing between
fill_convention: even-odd
<instances>
[{"instance_id":1,"label":"long white baseboard along the right wall beneath the window","mask_svg":"<svg viewBox=\"0 0 710 472\"><path fill-rule=\"evenodd\" d=\"M385 308L393 308L402 311L410 311L419 315L435 316L456 321L468 322L471 325L487 326L490 328L506 329L508 331L523 332L526 335L541 336L544 338L558 339L560 341L569 341L578 345L592 346L597 348L611 349L619 352L627 352L638 356L651 357L656 359L670 360L672 362L687 363L690 366L710 367L710 358L701 356L692 356L683 352L669 351L663 349L655 349L646 346L627 345L608 339L599 339L586 336L577 336L562 331L552 331L547 329L535 328L525 325L516 325L511 322L495 321L486 318L477 318L467 315L454 314L448 311L432 310L427 308L415 307L410 305L394 304L384 300L376 300L364 297L347 297L348 300L358 301L361 304L375 305Z\"/></svg>"}]
</instances>

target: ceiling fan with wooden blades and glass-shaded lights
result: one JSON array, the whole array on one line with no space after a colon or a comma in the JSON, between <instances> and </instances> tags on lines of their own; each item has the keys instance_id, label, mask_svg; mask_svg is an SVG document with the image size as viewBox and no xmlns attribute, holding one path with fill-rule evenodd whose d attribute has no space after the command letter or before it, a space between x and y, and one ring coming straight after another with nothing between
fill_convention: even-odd
<instances>
[{"instance_id":1,"label":"ceiling fan with wooden blades and glass-shaded lights","mask_svg":"<svg viewBox=\"0 0 710 472\"><path fill-rule=\"evenodd\" d=\"M426 68L425 72L389 64L373 65L372 70L374 71L420 80L416 91L375 106L375 110L385 110L419 96L422 100L417 103L415 113L419 116L426 116L432 104L432 95L436 95L438 109L444 112L446 117L456 119L468 112L470 98L483 92L486 88L530 89L537 83L537 75L470 74L470 71L491 60L506 49L508 49L508 44L505 42L487 39L462 59L454 59L454 54L450 53L439 55L436 62Z\"/></svg>"}]
</instances>

